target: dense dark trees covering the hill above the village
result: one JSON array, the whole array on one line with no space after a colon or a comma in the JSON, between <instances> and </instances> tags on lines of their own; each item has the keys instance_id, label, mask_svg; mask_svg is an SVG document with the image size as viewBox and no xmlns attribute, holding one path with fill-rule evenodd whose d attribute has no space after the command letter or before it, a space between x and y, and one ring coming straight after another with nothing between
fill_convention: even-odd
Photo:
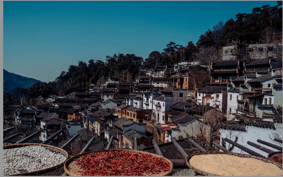
<instances>
[{"instance_id":1,"label":"dense dark trees covering the hill above the village","mask_svg":"<svg viewBox=\"0 0 283 177\"><path fill-rule=\"evenodd\" d=\"M175 63L182 61L200 61L208 65L217 61L218 47L226 46L227 42L238 40L246 43L261 42L263 31L267 28L271 32L282 33L282 1L277 1L275 6L263 5L253 8L250 14L239 13L235 20L218 22L211 29L203 33L198 42L188 42L187 46L169 42L163 52L152 51L148 58L143 59L134 54L118 53L106 56L105 62L90 59L88 63L79 61L78 65L70 65L68 71L62 71L55 81L35 83L29 89L17 88L13 96L29 103L31 98L48 96L48 94L65 95L71 92L84 92L88 85L105 83L109 76L120 76L122 82L133 81L141 69L154 69L155 66L167 65L173 68ZM266 31L266 30L265 30ZM167 73L168 75L168 73ZM202 81L202 86L207 85L207 78Z\"/></svg>"}]
</instances>

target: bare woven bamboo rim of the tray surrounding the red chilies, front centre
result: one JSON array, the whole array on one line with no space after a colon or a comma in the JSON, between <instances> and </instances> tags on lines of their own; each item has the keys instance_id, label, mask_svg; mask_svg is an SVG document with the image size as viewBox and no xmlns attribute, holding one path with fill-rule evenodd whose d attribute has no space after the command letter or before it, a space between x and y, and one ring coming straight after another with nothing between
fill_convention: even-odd
<instances>
[{"instance_id":1,"label":"bare woven bamboo rim of the tray surrounding the red chilies, front centre","mask_svg":"<svg viewBox=\"0 0 283 177\"><path fill-rule=\"evenodd\" d=\"M109 151L131 151L131 152L139 152L139 153L142 153L142 154L150 154L154 157L162 157L160 155L157 155L157 154L152 154L150 152L144 152L144 151L137 151L137 150L125 150L125 149L109 149L109 150L96 150L96 151L89 151L89 152L84 152L82 154L79 154L79 155L76 155L76 156L73 156L71 158L69 158L67 161L65 161L64 163L64 170L65 172L69 175L69 176L82 176L82 174L80 172L78 172L79 170L81 170L80 166L79 165L76 165L76 159L80 158L81 156L84 156L86 154L89 154L91 152L99 152L99 151L103 151L103 152L109 152ZM167 172L160 172L159 174L153 174L152 176L168 176L171 174L172 170L173 170L173 163L169 160L169 159L166 159L165 157L162 157L164 158L166 161L168 161L171 165L170 167L170 170L167 171Z\"/></svg>"}]
</instances>

